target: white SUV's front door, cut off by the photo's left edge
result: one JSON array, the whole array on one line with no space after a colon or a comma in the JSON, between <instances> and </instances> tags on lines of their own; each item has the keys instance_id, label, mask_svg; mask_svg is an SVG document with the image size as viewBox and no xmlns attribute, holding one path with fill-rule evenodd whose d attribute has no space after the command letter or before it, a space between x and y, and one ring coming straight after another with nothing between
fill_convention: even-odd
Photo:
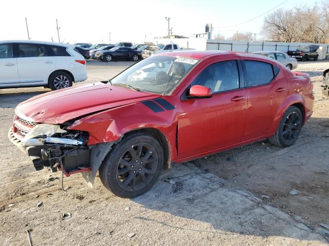
<instances>
[{"instance_id":1,"label":"white SUV's front door, cut off by the photo's left edge","mask_svg":"<svg viewBox=\"0 0 329 246\"><path fill-rule=\"evenodd\" d=\"M20 87L14 44L0 44L0 88Z\"/></svg>"}]
</instances>

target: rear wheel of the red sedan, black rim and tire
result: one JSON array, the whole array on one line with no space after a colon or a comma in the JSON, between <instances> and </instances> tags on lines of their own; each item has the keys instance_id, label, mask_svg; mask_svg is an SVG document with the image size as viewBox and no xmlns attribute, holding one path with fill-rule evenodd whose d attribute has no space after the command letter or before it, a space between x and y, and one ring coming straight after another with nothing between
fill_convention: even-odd
<instances>
[{"instance_id":1,"label":"rear wheel of the red sedan, black rim and tire","mask_svg":"<svg viewBox=\"0 0 329 246\"><path fill-rule=\"evenodd\" d=\"M276 133L268 138L272 145L289 147L295 144L303 125L303 116L299 108L291 106L282 116Z\"/></svg>"}]
</instances>

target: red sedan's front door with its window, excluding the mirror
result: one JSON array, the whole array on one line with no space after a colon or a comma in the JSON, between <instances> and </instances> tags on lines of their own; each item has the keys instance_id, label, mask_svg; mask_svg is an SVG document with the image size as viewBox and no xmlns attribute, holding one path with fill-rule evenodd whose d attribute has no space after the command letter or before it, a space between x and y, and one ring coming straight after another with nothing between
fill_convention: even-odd
<instances>
[{"instance_id":1,"label":"red sedan's front door with its window, excluding the mirror","mask_svg":"<svg viewBox=\"0 0 329 246\"><path fill-rule=\"evenodd\" d=\"M212 60L191 86L202 85L211 98L181 97L178 113L178 158L215 151L241 142L247 114L247 92L238 57Z\"/></svg>"}]
</instances>

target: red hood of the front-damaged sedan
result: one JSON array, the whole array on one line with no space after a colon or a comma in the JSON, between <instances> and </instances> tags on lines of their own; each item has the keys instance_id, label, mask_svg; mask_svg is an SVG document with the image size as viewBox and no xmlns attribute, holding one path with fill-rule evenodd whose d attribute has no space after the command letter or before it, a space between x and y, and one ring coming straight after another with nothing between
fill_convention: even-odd
<instances>
[{"instance_id":1,"label":"red hood of the front-damaged sedan","mask_svg":"<svg viewBox=\"0 0 329 246\"><path fill-rule=\"evenodd\" d=\"M19 104L15 113L33 122L62 124L83 115L157 97L160 95L99 82L31 97Z\"/></svg>"}]
</instances>

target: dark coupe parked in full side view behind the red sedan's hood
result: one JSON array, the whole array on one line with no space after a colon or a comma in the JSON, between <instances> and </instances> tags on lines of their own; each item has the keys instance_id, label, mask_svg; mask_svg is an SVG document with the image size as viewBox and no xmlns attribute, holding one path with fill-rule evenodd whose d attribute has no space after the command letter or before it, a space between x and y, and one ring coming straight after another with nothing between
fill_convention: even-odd
<instances>
[{"instance_id":1,"label":"dark coupe parked in full side view behind the red sedan's hood","mask_svg":"<svg viewBox=\"0 0 329 246\"><path fill-rule=\"evenodd\" d=\"M111 50L100 51L99 59L105 61L111 60L134 60L141 58L141 51L129 47L114 47Z\"/></svg>"}]
</instances>

